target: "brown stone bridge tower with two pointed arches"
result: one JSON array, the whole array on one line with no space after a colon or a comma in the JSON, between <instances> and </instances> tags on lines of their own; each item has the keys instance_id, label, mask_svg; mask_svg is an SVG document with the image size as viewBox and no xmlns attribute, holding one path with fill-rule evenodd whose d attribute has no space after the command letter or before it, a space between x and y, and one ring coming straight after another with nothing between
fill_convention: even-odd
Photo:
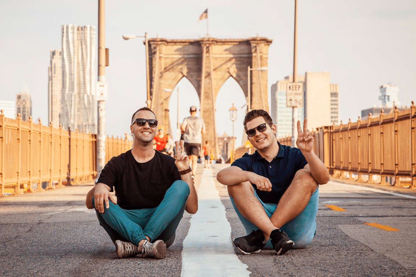
<instances>
[{"instance_id":1,"label":"brown stone bridge tower with two pointed arches","mask_svg":"<svg viewBox=\"0 0 416 277\"><path fill-rule=\"evenodd\" d=\"M149 74L151 109L159 125L170 129L169 98L171 90L186 77L198 93L201 117L206 124L203 141L210 140L218 156L215 128L215 99L224 82L233 77L248 99L247 68L267 67L268 48L272 40L249 39L198 40L149 39ZM164 91L164 89L167 89ZM267 71L251 71L251 109L265 109L267 104ZM172 130L169 130L172 134Z\"/></svg>"}]
</instances>

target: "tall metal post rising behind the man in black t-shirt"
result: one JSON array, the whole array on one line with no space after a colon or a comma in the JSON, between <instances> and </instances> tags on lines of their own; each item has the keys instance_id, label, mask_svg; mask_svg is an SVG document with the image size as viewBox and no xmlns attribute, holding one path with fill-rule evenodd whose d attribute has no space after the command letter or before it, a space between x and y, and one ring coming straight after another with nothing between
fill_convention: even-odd
<instances>
[{"instance_id":1,"label":"tall metal post rising behind the man in black t-shirt","mask_svg":"<svg viewBox=\"0 0 416 277\"><path fill-rule=\"evenodd\" d=\"M105 82L105 22L104 0L98 0L98 81ZM105 166L105 101L97 103L97 179Z\"/></svg>"}]
</instances>

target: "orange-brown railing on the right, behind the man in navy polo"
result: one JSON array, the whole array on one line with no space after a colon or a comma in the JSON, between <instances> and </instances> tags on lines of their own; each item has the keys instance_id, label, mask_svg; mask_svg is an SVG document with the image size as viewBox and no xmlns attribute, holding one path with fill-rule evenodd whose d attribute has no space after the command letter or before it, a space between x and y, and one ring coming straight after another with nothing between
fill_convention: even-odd
<instances>
[{"instance_id":1,"label":"orange-brown railing on the right, behind the man in navy polo","mask_svg":"<svg viewBox=\"0 0 416 277\"><path fill-rule=\"evenodd\" d=\"M333 176L368 181L379 175L381 183L391 177L395 185L416 188L416 106L391 114L381 113L366 120L339 126L324 126L311 132L314 152ZM290 145L291 137L277 139ZM255 149L251 150L253 153ZM248 152L244 146L235 149L235 159Z\"/></svg>"}]
</instances>

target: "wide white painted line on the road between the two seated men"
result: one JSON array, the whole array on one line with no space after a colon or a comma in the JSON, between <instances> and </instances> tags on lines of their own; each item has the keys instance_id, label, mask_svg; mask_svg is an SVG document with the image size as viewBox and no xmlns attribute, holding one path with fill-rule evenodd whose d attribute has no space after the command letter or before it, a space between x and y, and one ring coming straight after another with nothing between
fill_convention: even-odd
<instances>
[{"instance_id":1,"label":"wide white painted line on the road between the two seated men","mask_svg":"<svg viewBox=\"0 0 416 277\"><path fill-rule=\"evenodd\" d=\"M204 168L198 189L198 212L192 215L183 241L181 276L248 277L248 266L238 259L231 244L231 226L212 176L212 171Z\"/></svg>"}]
</instances>

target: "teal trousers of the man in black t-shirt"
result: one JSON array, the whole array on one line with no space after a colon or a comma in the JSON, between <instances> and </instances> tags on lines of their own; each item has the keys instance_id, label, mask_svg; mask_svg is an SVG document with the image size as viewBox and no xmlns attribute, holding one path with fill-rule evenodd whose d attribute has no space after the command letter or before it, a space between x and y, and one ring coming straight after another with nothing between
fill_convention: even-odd
<instances>
[{"instance_id":1,"label":"teal trousers of the man in black t-shirt","mask_svg":"<svg viewBox=\"0 0 416 277\"><path fill-rule=\"evenodd\" d=\"M99 213L97 209L95 212L100 225L113 242L122 240L138 245L148 236L151 242L163 240L169 247L175 240L189 192L186 182L175 181L155 208L125 210L109 201L108 209L104 205L104 213ZM95 208L94 198L93 205Z\"/></svg>"}]
</instances>

